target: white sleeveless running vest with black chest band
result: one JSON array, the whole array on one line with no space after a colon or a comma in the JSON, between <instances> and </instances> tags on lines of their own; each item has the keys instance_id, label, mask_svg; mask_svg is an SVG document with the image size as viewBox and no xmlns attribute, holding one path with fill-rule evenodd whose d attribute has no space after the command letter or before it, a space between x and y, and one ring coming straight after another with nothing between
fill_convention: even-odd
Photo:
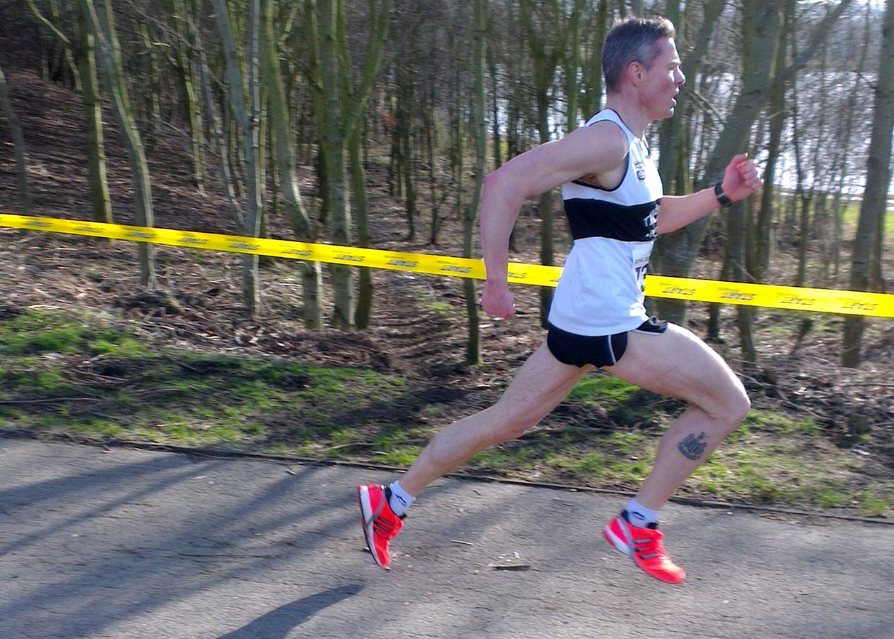
<instances>
[{"instance_id":1,"label":"white sleeveless running vest with black chest band","mask_svg":"<svg viewBox=\"0 0 894 639\"><path fill-rule=\"evenodd\" d=\"M643 142L611 109L586 125L603 121L627 136L627 168L611 191L578 181L562 185L574 244L549 314L553 326L586 336L633 330L648 319L645 271L662 201L662 179Z\"/></svg>"}]
</instances>

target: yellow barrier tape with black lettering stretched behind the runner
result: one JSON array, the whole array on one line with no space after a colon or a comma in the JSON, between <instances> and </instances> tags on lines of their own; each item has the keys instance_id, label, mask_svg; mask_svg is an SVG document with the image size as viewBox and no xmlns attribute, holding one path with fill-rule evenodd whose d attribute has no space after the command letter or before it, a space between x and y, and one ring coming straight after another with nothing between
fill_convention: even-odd
<instances>
[{"instance_id":1,"label":"yellow barrier tape with black lettering stretched behind the runner","mask_svg":"<svg viewBox=\"0 0 894 639\"><path fill-rule=\"evenodd\" d=\"M4 213L0 213L0 226L50 233L106 237L131 242L167 244L206 251L229 251L357 267L388 268L428 275L485 278L485 264L482 260L426 253L382 251L356 246L291 242L260 237L103 224L56 217L27 217ZM561 267L521 262L510 262L509 264L511 284L555 286L560 276ZM645 294L651 297L668 297L692 302L746 304L794 311L894 318L894 295L861 291L744 284L650 275L645 278Z\"/></svg>"}]
</instances>

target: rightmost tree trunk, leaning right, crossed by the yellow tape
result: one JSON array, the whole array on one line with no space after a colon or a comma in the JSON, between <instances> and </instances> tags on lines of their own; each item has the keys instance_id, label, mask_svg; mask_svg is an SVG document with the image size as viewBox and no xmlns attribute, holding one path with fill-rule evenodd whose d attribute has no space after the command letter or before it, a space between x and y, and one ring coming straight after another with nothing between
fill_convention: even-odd
<instances>
[{"instance_id":1,"label":"rightmost tree trunk, leaning right, crossed by the yellow tape","mask_svg":"<svg viewBox=\"0 0 894 639\"><path fill-rule=\"evenodd\" d=\"M873 247L882 233L883 216L887 207L891 179L891 128L894 126L894 4L885 9L882 25L879 71L875 85L873 131L869 141L866 163L866 188L860 204L860 218L856 226L854 252L851 258L850 288L869 290L873 283ZM860 365L865 319L862 315L848 315L844 321L841 364Z\"/></svg>"}]
</instances>

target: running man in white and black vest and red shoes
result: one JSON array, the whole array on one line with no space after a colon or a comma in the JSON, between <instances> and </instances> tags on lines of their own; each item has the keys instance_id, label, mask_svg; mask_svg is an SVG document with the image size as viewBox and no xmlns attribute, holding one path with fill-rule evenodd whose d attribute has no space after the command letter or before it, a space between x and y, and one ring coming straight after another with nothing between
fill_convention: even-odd
<instances>
[{"instance_id":1,"label":"running man in white and black vest and red shoes","mask_svg":"<svg viewBox=\"0 0 894 639\"><path fill-rule=\"evenodd\" d=\"M745 419L750 402L730 367L701 339L646 315L645 270L658 234L746 198L761 179L743 154L732 158L713 188L662 194L644 132L673 115L686 81L675 36L665 19L619 22L603 47L605 109L563 139L487 175L481 200L486 312L503 319L514 314L506 281L509 237L527 198L561 186L574 244L556 287L546 341L499 401L435 435L400 480L358 487L367 546L379 566L388 567L389 543L421 490L486 447L519 438L598 367L688 404L663 434L636 496L603 530L648 575L673 584L686 577L662 546L658 512Z\"/></svg>"}]
</instances>

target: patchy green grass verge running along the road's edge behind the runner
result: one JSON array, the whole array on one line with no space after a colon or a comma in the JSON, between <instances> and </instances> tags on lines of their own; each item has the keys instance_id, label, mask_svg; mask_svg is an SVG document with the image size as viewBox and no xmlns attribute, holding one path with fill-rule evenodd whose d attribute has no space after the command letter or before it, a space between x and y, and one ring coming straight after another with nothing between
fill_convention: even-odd
<instances>
[{"instance_id":1,"label":"patchy green grass verge running along the road's edge behind the runner","mask_svg":"<svg viewBox=\"0 0 894 639\"><path fill-rule=\"evenodd\" d=\"M443 427L407 379L362 368L150 348L111 320L24 311L0 320L0 424L93 439L223 447L408 466ZM461 470L636 490L674 400L609 375L578 382L550 428ZM593 415L587 420L586 415ZM894 481L810 417L753 409L678 494L890 515Z\"/></svg>"}]
</instances>

